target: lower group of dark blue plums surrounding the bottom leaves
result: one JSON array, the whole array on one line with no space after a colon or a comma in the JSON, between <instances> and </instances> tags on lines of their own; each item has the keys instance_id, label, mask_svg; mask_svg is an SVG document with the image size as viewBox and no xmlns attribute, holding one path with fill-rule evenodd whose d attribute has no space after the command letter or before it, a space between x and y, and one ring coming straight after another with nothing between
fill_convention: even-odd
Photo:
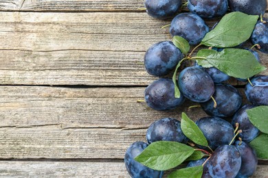
<instances>
[{"instance_id":1,"label":"lower group of dark blue plums surrounding the bottom leaves","mask_svg":"<svg viewBox=\"0 0 268 178\"><path fill-rule=\"evenodd\" d=\"M214 150L209 156L201 160L188 162L187 167L203 164L202 177L249 177L254 174L258 164L256 152L248 142L258 136L259 130L250 123L247 109L253 105L244 105L234 115L232 124L216 116L206 116L196 121L197 126L208 140L209 147ZM232 141L237 129L244 129L238 133L240 140ZM126 150L124 162L131 177L162 177L163 171L150 169L134 158L142 153L148 144L161 140L190 142L181 131L181 123L175 118L161 118L148 127L146 142L134 142ZM231 143L231 144L230 144ZM196 145L200 149L207 149ZM207 149L209 151L209 149Z\"/></svg>"}]
</instances>

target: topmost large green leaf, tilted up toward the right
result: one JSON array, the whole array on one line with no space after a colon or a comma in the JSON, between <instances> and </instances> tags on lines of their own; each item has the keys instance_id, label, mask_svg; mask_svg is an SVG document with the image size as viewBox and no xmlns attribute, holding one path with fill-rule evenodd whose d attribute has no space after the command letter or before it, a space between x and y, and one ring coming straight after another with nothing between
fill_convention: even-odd
<instances>
[{"instance_id":1,"label":"topmost large green leaf, tilted up toward the right","mask_svg":"<svg viewBox=\"0 0 268 178\"><path fill-rule=\"evenodd\" d=\"M257 15L242 12L226 14L218 25L205 35L201 44L207 47L235 47L249 39L257 21Z\"/></svg>"}]
</instances>

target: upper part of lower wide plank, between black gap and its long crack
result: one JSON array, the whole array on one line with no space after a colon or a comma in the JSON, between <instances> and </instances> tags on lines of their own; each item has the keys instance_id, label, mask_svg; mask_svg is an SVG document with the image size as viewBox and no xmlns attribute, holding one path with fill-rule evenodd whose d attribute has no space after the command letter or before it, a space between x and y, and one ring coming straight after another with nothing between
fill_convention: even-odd
<instances>
[{"instance_id":1,"label":"upper part of lower wide plank, between black gap and its long crack","mask_svg":"<svg viewBox=\"0 0 268 178\"><path fill-rule=\"evenodd\" d=\"M1 86L0 127L140 129L162 117L180 118L181 112L192 119L205 116L201 108L188 112L188 107L195 105L190 101L177 110L155 111L146 103L137 103L144 99L144 89Z\"/></svg>"}]
</instances>

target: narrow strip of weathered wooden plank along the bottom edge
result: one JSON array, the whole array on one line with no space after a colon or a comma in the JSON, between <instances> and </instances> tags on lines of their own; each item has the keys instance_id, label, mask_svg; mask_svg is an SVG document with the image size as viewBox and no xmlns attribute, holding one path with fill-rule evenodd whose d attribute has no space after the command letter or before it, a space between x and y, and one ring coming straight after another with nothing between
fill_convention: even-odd
<instances>
[{"instance_id":1,"label":"narrow strip of weathered wooden plank along the bottom edge","mask_svg":"<svg viewBox=\"0 0 268 178\"><path fill-rule=\"evenodd\" d=\"M0 174L5 177L130 177L123 162L1 161ZM268 166L259 165L252 176L255 177L268 177Z\"/></svg>"}]
</instances>

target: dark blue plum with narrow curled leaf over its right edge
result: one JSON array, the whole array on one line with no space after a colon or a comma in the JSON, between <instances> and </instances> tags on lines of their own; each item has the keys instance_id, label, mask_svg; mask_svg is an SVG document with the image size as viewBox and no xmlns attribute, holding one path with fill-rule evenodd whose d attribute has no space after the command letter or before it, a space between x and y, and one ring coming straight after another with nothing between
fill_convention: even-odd
<instances>
[{"instance_id":1,"label":"dark blue plum with narrow curled leaf over its right edge","mask_svg":"<svg viewBox=\"0 0 268 178\"><path fill-rule=\"evenodd\" d=\"M172 79L157 79L147 86L144 98L154 110L173 110L185 101L185 97L175 98L175 85Z\"/></svg>"}]
</instances>

